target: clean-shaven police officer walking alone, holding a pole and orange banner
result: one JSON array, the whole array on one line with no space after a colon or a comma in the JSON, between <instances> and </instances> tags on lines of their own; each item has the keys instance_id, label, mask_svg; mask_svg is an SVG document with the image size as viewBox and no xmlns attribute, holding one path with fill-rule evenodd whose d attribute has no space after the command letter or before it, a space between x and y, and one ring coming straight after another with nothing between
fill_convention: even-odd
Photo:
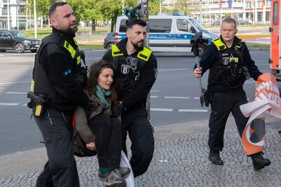
<instances>
[{"instance_id":1,"label":"clean-shaven police officer walking alone, holding a pole and orange banner","mask_svg":"<svg viewBox=\"0 0 281 187\"><path fill-rule=\"evenodd\" d=\"M211 103L209 119L209 160L214 165L223 165L219 152L223 150L223 134L228 115L232 112L240 137L247 124L240 105L247 103L242 88L244 81L253 77L257 80L262 73L251 59L246 44L235 37L237 25L233 18L226 18L221 24L221 37L212 41L200 60L200 68L194 70L195 77L201 77L209 70L207 102ZM254 169L270 165L270 160L261 153L250 155Z\"/></svg>"}]
</instances>

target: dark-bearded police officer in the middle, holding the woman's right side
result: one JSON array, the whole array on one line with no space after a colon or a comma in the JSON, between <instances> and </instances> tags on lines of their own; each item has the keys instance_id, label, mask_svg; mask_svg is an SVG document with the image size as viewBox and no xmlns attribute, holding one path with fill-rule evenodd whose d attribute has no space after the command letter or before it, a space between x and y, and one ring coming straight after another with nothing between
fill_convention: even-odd
<instances>
[{"instance_id":1,"label":"dark-bearded police officer in the middle, holding the woman's right side","mask_svg":"<svg viewBox=\"0 0 281 187\"><path fill-rule=\"evenodd\" d=\"M146 22L130 20L126 24L126 39L112 45L103 60L115 67L119 103L112 105L112 115L122 113L123 150L127 153L128 132L132 142L130 162L136 177L146 172L154 152L154 137L145 103L156 79L157 60L152 51L143 46Z\"/></svg>"}]
</instances>

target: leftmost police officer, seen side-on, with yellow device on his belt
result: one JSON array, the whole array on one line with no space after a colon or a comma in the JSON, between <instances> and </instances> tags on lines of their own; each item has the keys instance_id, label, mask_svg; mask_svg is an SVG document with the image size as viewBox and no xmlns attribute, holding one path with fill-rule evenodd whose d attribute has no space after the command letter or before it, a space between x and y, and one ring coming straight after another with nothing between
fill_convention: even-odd
<instances>
[{"instance_id":1,"label":"leftmost police officer, seen side-on, with yellow device on his belt","mask_svg":"<svg viewBox=\"0 0 281 187\"><path fill-rule=\"evenodd\" d=\"M79 186L72 114L77 105L87 108L89 98L81 86L81 56L74 40L78 28L71 6L65 2L52 4L49 17L53 32L42 40L35 57L28 95L48 155L36 186Z\"/></svg>"}]
</instances>

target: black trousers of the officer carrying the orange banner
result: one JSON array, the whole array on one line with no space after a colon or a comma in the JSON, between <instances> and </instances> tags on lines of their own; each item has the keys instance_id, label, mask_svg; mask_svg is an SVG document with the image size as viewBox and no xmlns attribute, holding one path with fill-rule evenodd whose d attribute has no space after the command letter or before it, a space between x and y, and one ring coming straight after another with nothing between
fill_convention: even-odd
<instances>
[{"instance_id":1,"label":"black trousers of the officer carrying the orange banner","mask_svg":"<svg viewBox=\"0 0 281 187\"><path fill-rule=\"evenodd\" d=\"M209 118L208 145L210 150L223 150L223 134L230 112L233 114L240 137L242 136L248 121L248 117L244 117L240 110L240 105L244 103L247 103L247 97L242 88L235 91L214 93L214 103L211 105Z\"/></svg>"}]
</instances>

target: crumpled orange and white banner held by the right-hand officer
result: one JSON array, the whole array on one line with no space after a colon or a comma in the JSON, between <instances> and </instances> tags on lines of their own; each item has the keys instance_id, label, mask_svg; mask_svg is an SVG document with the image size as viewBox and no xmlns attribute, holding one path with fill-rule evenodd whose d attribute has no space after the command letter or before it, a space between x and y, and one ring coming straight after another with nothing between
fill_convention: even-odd
<instances>
[{"instance_id":1,"label":"crumpled orange and white banner held by the right-hand officer","mask_svg":"<svg viewBox=\"0 0 281 187\"><path fill-rule=\"evenodd\" d=\"M259 153L266 141L263 112L281 118L280 93L276 79L270 73L263 73L256 82L255 100L240 106L244 116L249 117L242 134L242 145L247 155Z\"/></svg>"}]
</instances>

